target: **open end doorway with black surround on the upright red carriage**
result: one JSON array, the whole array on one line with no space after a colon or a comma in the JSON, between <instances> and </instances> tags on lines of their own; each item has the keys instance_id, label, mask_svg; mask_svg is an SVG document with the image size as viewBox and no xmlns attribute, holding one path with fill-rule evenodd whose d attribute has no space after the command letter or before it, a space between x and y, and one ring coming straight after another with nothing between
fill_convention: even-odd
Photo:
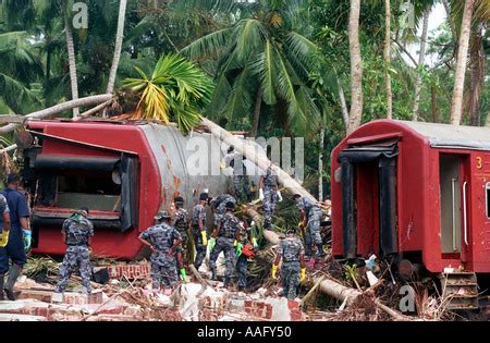
<instances>
[{"instance_id":1,"label":"open end doorway with black surround on the upright red carriage","mask_svg":"<svg viewBox=\"0 0 490 343\"><path fill-rule=\"evenodd\" d=\"M350 146L339 156L344 258L397 253L397 142Z\"/></svg>"}]
</instances>

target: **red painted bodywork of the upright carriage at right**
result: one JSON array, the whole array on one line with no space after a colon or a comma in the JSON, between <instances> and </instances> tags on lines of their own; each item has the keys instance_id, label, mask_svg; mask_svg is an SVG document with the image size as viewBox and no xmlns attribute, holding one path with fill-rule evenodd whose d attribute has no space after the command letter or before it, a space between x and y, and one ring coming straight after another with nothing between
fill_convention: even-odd
<instances>
[{"instance_id":1,"label":"red painted bodywork of the upright carriage at right","mask_svg":"<svg viewBox=\"0 0 490 343\"><path fill-rule=\"evenodd\" d=\"M444 125L451 131L451 126ZM456 127L454 130L457 130ZM481 132L480 132L481 133ZM433 147L429 138L409 125L389 120L367 123L343 139L332 151L331 199L332 245L335 256L343 256L343 208L339 155L350 145L371 145L399 137L396 168L397 249L402 254L421 254L429 271L463 266L466 270L490 272L490 219L487 217L486 187L490 186L490 151L464 146ZM490 137L490 130L489 130ZM460 136L461 138L461 136ZM468 136L468 143L474 137ZM442 254L440 156L461 157L461 185L466 182L466 234L462 217L462 246L458 254ZM372 172L357 170L357 254L366 257L373 248L379 254L379 212ZM336 173L335 173L336 171ZM336 179L336 180L335 180ZM462 193L463 194L463 193ZM461 206L463 207L463 195ZM468 244L465 243L467 238ZM457 258L456 258L457 257Z\"/></svg>"}]
</instances>

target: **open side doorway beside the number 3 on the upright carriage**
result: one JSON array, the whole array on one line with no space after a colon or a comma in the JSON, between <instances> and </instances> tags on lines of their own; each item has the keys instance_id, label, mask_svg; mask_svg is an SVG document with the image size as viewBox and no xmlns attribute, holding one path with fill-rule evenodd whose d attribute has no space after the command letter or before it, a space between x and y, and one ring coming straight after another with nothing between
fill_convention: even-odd
<instances>
[{"instance_id":1,"label":"open side doorway beside the number 3 on the upright carriage","mask_svg":"<svg viewBox=\"0 0 490 343\"><path fill-rule=\"evenodd\" d=\"M441 154L439 157L442 259L467 259L463 248L468 245L467 160L464 155Z\"/></svg>"}]
</instances>

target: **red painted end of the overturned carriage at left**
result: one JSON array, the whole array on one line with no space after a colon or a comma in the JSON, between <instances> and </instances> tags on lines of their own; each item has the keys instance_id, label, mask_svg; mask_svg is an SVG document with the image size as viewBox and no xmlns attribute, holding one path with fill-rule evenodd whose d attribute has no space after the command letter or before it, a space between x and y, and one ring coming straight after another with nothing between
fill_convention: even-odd
<instances>
[{"instance_id":1,"label":"red painted end of the overturned carriage at left","mask_svg":"<svg viewBox=\"0 0 490 343\"><path fill-rule=\"evenodd\" d=\"M135 258L143 247L137 236L139 232L154 223L154 216L160 206L161 193L160 171L140 127L132 124L118 125L100 122L32 121L28 123L28 128L84 144L137 154L139 163L137 228L133 228L125 233L98 230L93 243L93 250L96 255L122 259ZM41 154L82 157L120 156L117 151L93 149L51 139L45 139ZM54 208L53 210L63 212L62 209ZM62 242L60 228L44 226L39 230L39 245L33 249L34 253L62 255L64 250L65 245Z\"/></svg>"}]
</instances>

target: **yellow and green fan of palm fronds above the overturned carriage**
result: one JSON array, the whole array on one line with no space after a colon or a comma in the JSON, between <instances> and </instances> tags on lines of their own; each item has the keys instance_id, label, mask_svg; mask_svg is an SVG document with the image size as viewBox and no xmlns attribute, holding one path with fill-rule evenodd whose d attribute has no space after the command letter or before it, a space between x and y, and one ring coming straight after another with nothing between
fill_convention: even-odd
<instances>
[{"instance_id":1,"label":"yellow and green fan of palm fronds above the overturned carriage","mask_svg":"<svg viewBox=\"0 0 490 343\"><path fill-rule=\"evenodd\" d=\"M179 54L162 57L148 76L127 78L124 85L140 95L137 111L130 119L176 121L185 134L200 123L200 111L209 103L212 81L194 63Z\"/></svg>"}]
</instances>

